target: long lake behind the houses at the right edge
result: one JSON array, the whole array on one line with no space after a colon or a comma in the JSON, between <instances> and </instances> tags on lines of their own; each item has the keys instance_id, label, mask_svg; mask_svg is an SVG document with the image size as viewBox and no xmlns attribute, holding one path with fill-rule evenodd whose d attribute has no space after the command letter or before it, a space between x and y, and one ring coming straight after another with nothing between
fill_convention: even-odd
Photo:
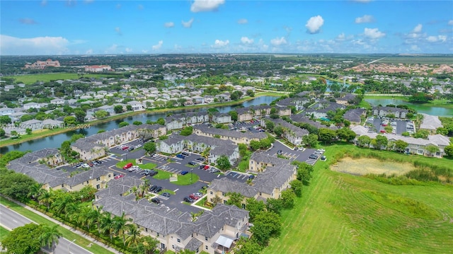
<instances>
[{"instance_id":1,"label":"long lake behind the houses at the right edge","mask_svg":"<svg viewBox=\"0 0 453 254\"><path fill-rule=\"evenodd\" d=\"M377 105L408 105L409 108L413 108L414 110L417 110L419 113L425 113L428 115L438 115L440 117L453 117L453 108L442 108L442 107L436 107L435 105L431 106L424 106L424 105L419 105L415 103L409 103L407 101L401 100L401 99L365 99L369 104L372 106L377 106Z\"/></svg>"}]
</instances>

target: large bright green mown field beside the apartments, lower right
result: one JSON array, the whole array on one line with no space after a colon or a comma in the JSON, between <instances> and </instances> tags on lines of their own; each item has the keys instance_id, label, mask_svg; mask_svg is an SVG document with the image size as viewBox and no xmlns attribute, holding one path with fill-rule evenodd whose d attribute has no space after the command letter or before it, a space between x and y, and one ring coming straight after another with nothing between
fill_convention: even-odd
<instances>
[{"instance_id":1,"label":"large bright green mown field beside the apartments, lower right","mask_svg":"<svg viewBox=\"0 0 453 254\"><path fill-rule=\"evenodd\" d=\"M326 147L328 161L316 163L311 185L292 210L282 213L280 238L263 253L453 252L452 185L387 185L330 171L328 162L345 150L362 151L352 145ZM403 159L436 163L418 156ZM437 163L453 168L451 160Z\"/></svg>"}]
</instances>

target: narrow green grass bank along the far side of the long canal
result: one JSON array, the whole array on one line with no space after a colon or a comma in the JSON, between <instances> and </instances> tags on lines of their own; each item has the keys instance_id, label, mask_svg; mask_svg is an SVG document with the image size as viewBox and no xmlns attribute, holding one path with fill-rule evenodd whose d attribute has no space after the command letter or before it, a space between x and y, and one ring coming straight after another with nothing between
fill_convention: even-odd
<instances>
[{"instance_id":1,"label":"narrow green grass bank along the far side of the long canal","mask_svg":"<svg viewBox=\"0 0 453 254\"><path fill-rule=\"evenodd\" d=\"M226 102L226 103L214 103L214 104L210 104L210 105L192 105L192 106L184 106L184 107L176 107L176 108L152 108L149 110L142 110L142 111L130 111L130 112L122 113L122 114L105 117L101 120L85 122L84 126L89 127L89 126L99 125L101 123L110 122L113 120L122 119L122 118L130 117L133 115L139 115L139 114L171 112L171 111L176 111L176 110L195 110L195 109L199 109L199 108L217 108L217 107L223 107L223 106L228 106L228 105L237 105L237 104L244 103L248 100L253 100L253 98L260 97L260 96L280 97L280 96L284 96L284 94L265 91L265 92L256 93L255 97L246 96L246 97L242 98L241 100L235 100L235 101L230 101L230 102ZM20 139L9 139L9 138L1 139L0 147L8 146L11 144L20 144L22 142L30 141L33 139L40 139L42 137L48 137L48 136L52 136L52 135L60 134L60 133L64 133L64 132L69 132L71 130L76 130L76 128L41 129L39 131L33 132L32 134L22 135Z\"/></svg>"}]
</instances>

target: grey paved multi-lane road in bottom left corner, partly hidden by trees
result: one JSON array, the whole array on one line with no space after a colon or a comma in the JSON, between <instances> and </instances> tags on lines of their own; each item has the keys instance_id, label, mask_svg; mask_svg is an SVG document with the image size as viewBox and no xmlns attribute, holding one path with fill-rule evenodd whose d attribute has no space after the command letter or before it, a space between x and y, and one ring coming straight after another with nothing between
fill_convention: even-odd
<instances>
[{"instance_id":1,"label":"grey paved multi-lane road in bottom left corner, partly hidden by trees","mask_svg":"<svg viewBox=\"0 0 453 254\"><path fill-rule=\"evenodd\" d=\"M16 229L18 226L30 223L34 223L34 221L31 221L30 219L23 217L21 214L5 207L3 204L0 204L0 225L4 226L4 228ZM49 252L48 249L45 250L47 250L47 253ZM73 243L66 238L59 238L59 243L57 248L55 248L54 254L60 253L89 254L91 252L81 248L76 244L76 242Z\"/></svg>"}]
</instances>

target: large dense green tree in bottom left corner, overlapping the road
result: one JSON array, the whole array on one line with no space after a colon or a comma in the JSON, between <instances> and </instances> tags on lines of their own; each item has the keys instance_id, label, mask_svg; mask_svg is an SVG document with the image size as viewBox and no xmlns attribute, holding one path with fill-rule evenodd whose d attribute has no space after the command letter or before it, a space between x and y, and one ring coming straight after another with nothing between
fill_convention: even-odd
<instances>
[{"instance_id":1,"label":"large dense green tree in bottom left corner, overlapping the road","mask_svg":"<svg viewBox=\"0 0 453 254\"><path fill-rule=\"evenodd\" d=\"M41 241L39 236L44 230L41 225L34 223L25 224L13 229L3 241L1 246L8 250L8 253L15 254L30 254L38 253L41 249Z\"/></svg>"}]
</instances>

